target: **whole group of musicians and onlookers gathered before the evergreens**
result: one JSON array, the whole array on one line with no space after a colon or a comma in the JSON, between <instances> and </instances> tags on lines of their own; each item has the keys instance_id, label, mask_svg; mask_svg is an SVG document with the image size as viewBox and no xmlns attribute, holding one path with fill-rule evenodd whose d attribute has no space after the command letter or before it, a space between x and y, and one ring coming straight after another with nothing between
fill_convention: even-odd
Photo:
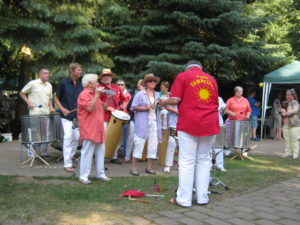
<instances>
[{"instance_id":1,"label":"whole group of musicians and onlookers gathered before the evergreens","mask_svg":"<svg viewBox=\"0 0 300 225\"><path fill-rule=\"evenodd\" d=\"M170 202L184 207L192 204L193 188L196 190L197 203L207 204L208 186L211 169L211 149L220 125L229 125L232 120L249 120L251 139L256 137L260 102L255 99L255 91L243 97L243 88L234 88L234 96L224 103L219 96L216 80L202 70L197 60L186 64L184 72L178 74L169 92L169 83L154 74L147 74L139 80L135 93L126 90L124 80L112 83L116 75L105 68L97 74L82 76L82 66L71 63L69 77L58 85L54 102L59 109L64 130L63 156L66 172L74 172L73 156L79 142L82 144L80 157L79 181L90 184L92 159L95 155L96 178L109 181L105 174L106 131L112 112L120 110L130 115L130 121L122 126L121 148L117 148L111 163L122 164L118 151L124 152L124 162L131 162L130 174L139 176L137 163L143 158L147 143L147 163L145 172L155 175L153 161L157 159L157 149L162 142L162 133L168 130L177 132L179 143L179 186L176 197ZM30 81L20 92L27 103L30 115L49 114L54 111L52 105L52 86L48 82L49 69L39 70L39 79ZM82 78L81 78L82 76ZM159 85L160 92L155 91ZM112 91L111 93L107 90ZM283 135L286 143L285 156L298 157L298 140L296 134L300 126L299 104L296 92L286 92L287 106L274 102L276 111L283 121ZM223 122L223 115L227 119ZM278 116L276 129L280 135ZM228 126L229 127L229 126ZM280 136L278 136L280 137ZM169 138L167 143L164 172L169 173L174 162L176 141ZM44 144L36 145L41 154L46 153ZM296 151L297 150L297 151ZM224 168L223 148L217 157L217 167Z\"/></svg>"}]
</instances>

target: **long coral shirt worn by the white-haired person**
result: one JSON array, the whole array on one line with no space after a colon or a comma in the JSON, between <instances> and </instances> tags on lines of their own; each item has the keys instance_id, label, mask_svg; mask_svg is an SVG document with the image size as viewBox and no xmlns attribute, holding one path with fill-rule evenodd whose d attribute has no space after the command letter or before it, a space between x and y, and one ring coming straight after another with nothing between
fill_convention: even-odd
<instances>
[{"instance_id":1,"label":"long coral shirt worn by the white-haired person","mask_svg":"<svg viewBox=\"0 0 300 225\"><path fill-rule=\"evenodd\" d=\"M97 99L95 108L89 112L87 108L95 96L95 92L84 89L77 101L78 111L78 127L80 132L80 140L90 140L96 143L104 143L104 108L100 98Z\"/></svg>"}]
</instances>

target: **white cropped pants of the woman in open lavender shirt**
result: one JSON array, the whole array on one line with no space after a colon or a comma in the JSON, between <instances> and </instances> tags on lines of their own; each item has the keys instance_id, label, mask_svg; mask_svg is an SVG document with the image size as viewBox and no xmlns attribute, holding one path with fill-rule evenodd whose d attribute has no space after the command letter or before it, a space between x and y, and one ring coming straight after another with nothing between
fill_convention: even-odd
<instances>
[{"instance_id":1,"label":"white cropped pants of the woman in open lavender shirt","mask_svg":"<svg viewBox=\"0 0 300 225\"><path fill-rule=\"evenodd\" d=\"M158 145L157 123L155 120L149 120L148 123L148 135L145 139L134 134L134 150L132 155L134 158L142 158L144 145L148 138L147 158L156 159Z\"/></svg>"}]
</instances>

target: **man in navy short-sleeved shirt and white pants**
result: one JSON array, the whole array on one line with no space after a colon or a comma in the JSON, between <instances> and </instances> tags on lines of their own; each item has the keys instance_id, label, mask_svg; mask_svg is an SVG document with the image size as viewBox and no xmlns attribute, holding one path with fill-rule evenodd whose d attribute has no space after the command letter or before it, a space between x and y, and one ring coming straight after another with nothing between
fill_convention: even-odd
<instances>
[{"instance_id":1,"label":"man in navy short-sleeved shirt and white pants","mask_svg":"<svg viewBox=\"0 0 300 225\"><path fill-rule=\"evenodd\" d=\"M64 168L66 172L74 172L73 157L77 151L79 130L77 121L77 98L83 90L79 80L82 66L79 63L69 65L70 76L60 82L54 97L55 104L60 110L61 123L64 129ZM73 124L74 123L74 124Z\"/></svg>"}]
</instances>

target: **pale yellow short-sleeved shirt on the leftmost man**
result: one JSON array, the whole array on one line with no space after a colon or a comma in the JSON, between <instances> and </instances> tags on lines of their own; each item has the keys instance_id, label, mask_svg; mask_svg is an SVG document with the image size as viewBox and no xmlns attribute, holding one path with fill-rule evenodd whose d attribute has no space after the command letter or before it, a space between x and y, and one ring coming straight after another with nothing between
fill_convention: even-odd
<instances>
[{"instance_id":1,"label":"pale yellow short-sleeved shirt on the leftmost man","mask_svg":"<svg viewBox=\"0 0 300 225\"><path fill-rule=\"evenodd\" d=\"M29 110L30 115L49 114L49 100L52 99L52 85L41 79L28 82L21 90L28 95L28 100L35 106Z\"/></svg>"}]
</instances>

